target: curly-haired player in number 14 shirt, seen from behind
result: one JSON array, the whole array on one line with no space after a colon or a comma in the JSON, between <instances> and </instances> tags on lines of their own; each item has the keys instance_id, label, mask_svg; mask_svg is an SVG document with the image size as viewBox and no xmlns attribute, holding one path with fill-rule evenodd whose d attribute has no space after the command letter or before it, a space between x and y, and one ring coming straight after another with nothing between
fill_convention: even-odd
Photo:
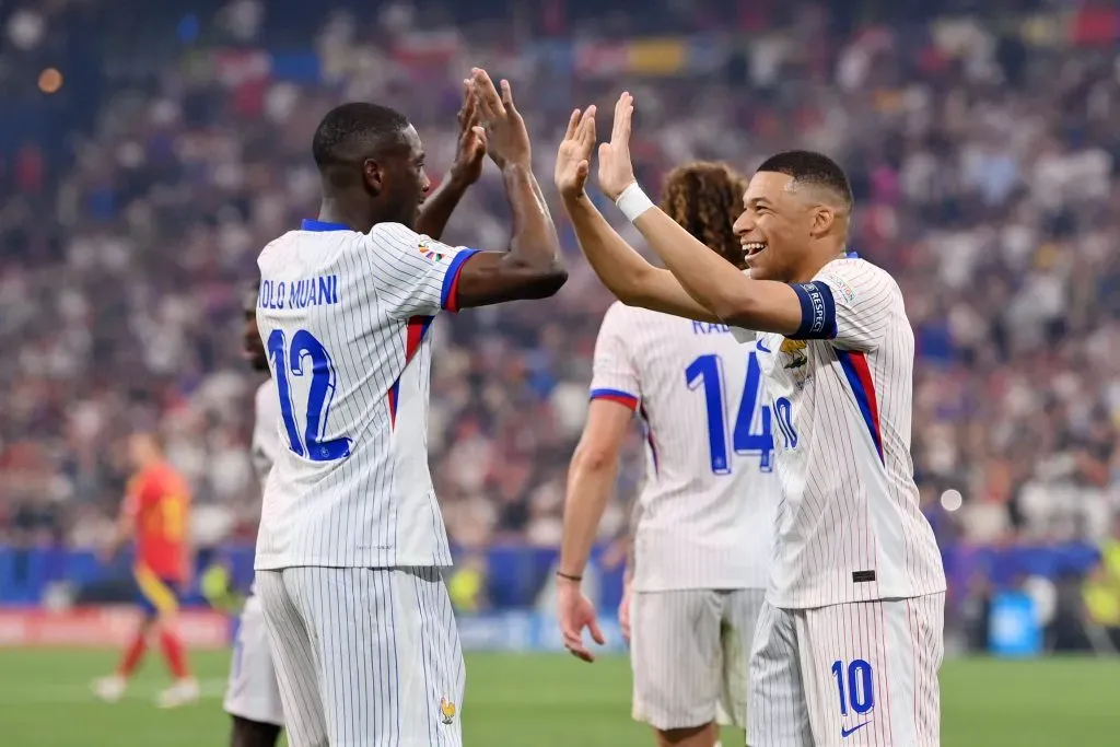
<instances>
[{"instance_id":1,"label":"curly-haired player in number 14 shirt, seen from behind","mask_svg":"<svg viewBox=\"0 0 1120 747\"><path fill-rule=\"evenodd\" d=\"M669 175L663 208L741 264L731 232L741 194L726 166L692 164ZM647 469L626 592L633 715L655 729L659 745L712 747L718 710L746 728L747 654L778 494L771 412L750 347L727 325L616 302L595 348L591 403L568 478L558 614L566 645L590 661L581 631L601 636L580 580L637 411Z\"/></svg>"}]
</instances>

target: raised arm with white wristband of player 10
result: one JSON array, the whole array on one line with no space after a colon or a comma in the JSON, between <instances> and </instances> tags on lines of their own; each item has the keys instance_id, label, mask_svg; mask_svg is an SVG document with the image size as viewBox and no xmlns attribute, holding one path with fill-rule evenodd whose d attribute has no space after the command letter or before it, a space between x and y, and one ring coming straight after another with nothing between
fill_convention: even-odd
<instances>
[{"instance_id":1,"label":"raised arm with white wristband of player 10","mask_svg":"<svg viewBox=\"0 0 1120 747\"><path fill-rule=\"evenodd\" d=\"M628 93L619 96L610 142L599 146L599 186L604 194L615 200L681 287L703 308L738 327L795 333L802 325L802 304L792 288L748 278L665 215L637 186L629 156L633 102Z\"/></svg>"}]
</instances>

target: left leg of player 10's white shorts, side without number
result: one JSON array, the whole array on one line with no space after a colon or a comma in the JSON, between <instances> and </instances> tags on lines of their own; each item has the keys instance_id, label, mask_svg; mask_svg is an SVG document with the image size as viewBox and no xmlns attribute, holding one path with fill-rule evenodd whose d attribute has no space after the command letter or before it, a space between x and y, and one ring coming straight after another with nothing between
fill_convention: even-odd
<instances>
[{"instance_id":1,"label":"left leg of player 10's white shorts, side without number","mask_svg":"<svg viewBox=\"0 0 1120 747\"><path fill-rule=\"evenodd\" d=\"M801 679L796 613L764 601L750 650L748 747L815 747Z\"/></svg>"}]
</instances>

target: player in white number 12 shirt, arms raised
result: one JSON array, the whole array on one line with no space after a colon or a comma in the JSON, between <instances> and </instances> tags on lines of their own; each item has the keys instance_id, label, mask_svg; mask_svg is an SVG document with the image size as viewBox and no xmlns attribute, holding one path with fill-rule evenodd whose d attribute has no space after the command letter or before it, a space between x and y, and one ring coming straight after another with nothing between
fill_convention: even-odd
<instances>
[{"instance_id":1,"label":"player in white number 12 shirt, arms raised","mask_svg":"<svg viewBox=\"0 0 1120 747\"><path fill-rule=\"evenodd\" d=\"M282 426L256 589L293 747L461 744L464 663L441 577L451 554L426 448L431 323L552 296L567 279L510 85L498 94L482 69L470 85L472 132L512 213L508 251L418 234L420 139L396 111L356 103L314 137L319 218L258 260Z\"/></svg>"}]
</instances>

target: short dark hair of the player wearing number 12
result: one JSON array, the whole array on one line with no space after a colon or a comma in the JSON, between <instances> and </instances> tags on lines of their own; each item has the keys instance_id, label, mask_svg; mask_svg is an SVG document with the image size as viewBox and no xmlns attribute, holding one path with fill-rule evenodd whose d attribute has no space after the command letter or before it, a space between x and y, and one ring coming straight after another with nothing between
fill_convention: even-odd
<instances>
[{"instance_id":1,"label":"short dark hair of the player wearing number 12","mask_svg":"<svg viewBox=\"0 0 1120 747\"><path fill-rule=\"evenodd\" d=\"M311 155L323 168L352 164L384 144L401 140L409 120L395 109L352 102L335 106L319 122L311 139Z\"/></svg>"}]
</instances>

